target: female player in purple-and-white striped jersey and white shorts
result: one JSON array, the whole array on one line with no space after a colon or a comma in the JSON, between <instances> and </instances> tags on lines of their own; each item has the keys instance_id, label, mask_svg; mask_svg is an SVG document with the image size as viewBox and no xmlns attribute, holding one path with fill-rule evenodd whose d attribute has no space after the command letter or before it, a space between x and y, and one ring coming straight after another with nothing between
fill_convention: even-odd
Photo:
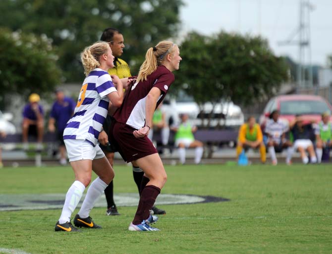
<instances>
[{"instance_id":1,"label":"female player in purple-and-white striped jersey and white shorts","mask_svg":"<svg viewBox=\"0 0 332 254\"><path fill-rule=\"evenodd\" d=\"M87 77L83 82L74 115L63 132L75 181L66 194L55 231L78 231L70 223L70 216L91 181L92 170L99 177L91 183L82 207L74 218L74 224L77 227L100 228L89 213L114 177L114 171L97 141L108 113L109 101L116 107L123 101L122 81L117 76L111 77L107 72L113 67L114 60L109 43L96 42L86 47L81 53L81 60Z\"/></svg>"}]
</instances>

